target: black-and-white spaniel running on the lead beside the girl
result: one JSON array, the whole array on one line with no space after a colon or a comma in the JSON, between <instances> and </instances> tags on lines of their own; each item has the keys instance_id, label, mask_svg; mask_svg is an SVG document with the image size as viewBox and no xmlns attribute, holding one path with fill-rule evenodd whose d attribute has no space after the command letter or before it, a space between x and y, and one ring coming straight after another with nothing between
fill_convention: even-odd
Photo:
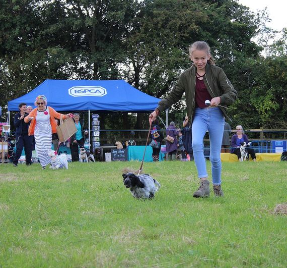
<instances>
[{"instance_id":1,"label":"black-and-white spaniel running on the lead beside the girl","mask_svg":"<svg viewBox=\"0 0 287 268\"><path fill-rule=\"evenodd\" d=\"M128 172L122 174L122 177L125 187L130 188L131 194L137 199L152 199L161 187L160 183L148 174L136 176Z\"/></svg>"}]
</instances>

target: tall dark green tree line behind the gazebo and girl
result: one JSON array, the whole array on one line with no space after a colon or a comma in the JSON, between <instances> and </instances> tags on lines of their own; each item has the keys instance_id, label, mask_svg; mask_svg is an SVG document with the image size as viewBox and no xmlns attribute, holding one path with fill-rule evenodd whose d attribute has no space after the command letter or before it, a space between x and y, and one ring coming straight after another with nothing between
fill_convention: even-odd
<instances>
[{"instance_id":1,"label":"tall dark green tree line behind the gazebo and girl","mask_svg":"<svg viewBox=\"0 0 287 268\"><path fill-rule=\"evenodd\" d=\"M268 43L276 34L268 20L266 10L254 14L236 0L1 1L0 106L45 79L124 79L161 98L191 65L188 46L204 40L238 91L232 127L286 129L287 30ZM182 118L184 101L171 111ZM148 124L145 114L101 121Z\"/></svg>"}]
</instances>

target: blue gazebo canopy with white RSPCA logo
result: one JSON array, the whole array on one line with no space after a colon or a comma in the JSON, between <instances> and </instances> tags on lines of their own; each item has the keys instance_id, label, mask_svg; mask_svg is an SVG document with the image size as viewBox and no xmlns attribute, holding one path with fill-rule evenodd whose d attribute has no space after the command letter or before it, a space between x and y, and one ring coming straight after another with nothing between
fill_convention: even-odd
<instances>
[{"instance_id":1,"label":"blue gazebo canopy with white RSPCA logo","mask_svg":"<svg viewBox=\"0 0 287 268\"><path fill-rule=\"evenodd\" d=\"M38 95L47 97L56 111L151 112L159 98L139 91L124 80L50 80L8 102L8 111L19 111L25 102L35 107Z\"/></svg>"}]
</instances>

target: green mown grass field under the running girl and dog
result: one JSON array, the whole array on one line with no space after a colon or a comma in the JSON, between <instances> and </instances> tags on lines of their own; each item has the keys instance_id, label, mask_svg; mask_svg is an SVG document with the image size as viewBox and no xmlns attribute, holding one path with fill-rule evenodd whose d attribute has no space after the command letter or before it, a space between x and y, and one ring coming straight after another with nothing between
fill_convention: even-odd
<instances>
[{"instance_id":1,"label":"green mown grass field under the running girl and dog","mask_svg":"<svg viewBox=\"0 0 287 268\"><path fill-rule=\"evenodd\" d=\"M286 164L223 163L225 196L195 199L194 163L145 163L147 201L123 185L138 162L0 165L0 266L286 267Z\"/></svg>"}]
</instances>

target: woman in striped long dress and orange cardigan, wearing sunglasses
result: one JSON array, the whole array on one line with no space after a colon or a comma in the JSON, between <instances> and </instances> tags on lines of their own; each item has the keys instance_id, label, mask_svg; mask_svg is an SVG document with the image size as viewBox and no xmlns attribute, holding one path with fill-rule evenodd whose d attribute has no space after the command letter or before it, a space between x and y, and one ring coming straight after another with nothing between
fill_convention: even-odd
<instances>
[{"instance_id":1,"label":"woman in striped long dress and orange cardigan, wearing sunglasses","mask_svg":"<svg viewBox=\"0 0 287 268\"><path fill-rule=\"evenodd\" d=\"M24 121L32 121L29 127L29 135L34 135L36 141L36 150L42 169L45 169L51 162L48 156L48 150L51 149L52 133L57 132L55 118L63 119L72 117L73 114L62 115L57 113L53 108L47 106L47 98L44 95L36 97L35 108Z\"/></svg>"}]
</instances>

